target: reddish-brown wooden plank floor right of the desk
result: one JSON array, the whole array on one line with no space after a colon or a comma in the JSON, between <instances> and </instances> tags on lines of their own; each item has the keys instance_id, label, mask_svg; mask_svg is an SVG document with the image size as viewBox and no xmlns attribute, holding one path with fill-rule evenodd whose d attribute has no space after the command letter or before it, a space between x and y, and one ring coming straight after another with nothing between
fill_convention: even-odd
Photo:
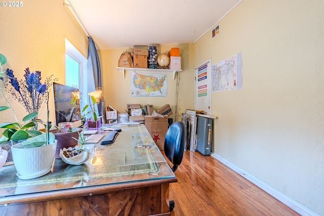
<instances>
[{"instance_id":1,"label":"reddish-brown wooden plank floor right of the desk","mask_svg":"<svg viewBox=\"0 0 324 216\"><path fill-rule=\"evenodd\" d=\"M172 216L299 215L212 156L185 151L175 175Z\"/></svg>"}]
</instances>

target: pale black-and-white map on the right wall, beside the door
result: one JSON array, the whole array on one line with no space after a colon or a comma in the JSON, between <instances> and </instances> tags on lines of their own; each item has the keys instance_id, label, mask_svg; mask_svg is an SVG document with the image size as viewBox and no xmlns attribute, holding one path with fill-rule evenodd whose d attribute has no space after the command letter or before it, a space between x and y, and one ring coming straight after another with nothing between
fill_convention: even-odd
<instances>
[{"instance_id":1,"label":"pale black-and-white map on the right wall, beside the door","mask_svg":"<svg viewBox=\"0 0 324 216\"><path fill-rule=\"evenodd\" d=\"M242 53L212 65L212 92L242 89Z\"/></svg>"}]
</instances>

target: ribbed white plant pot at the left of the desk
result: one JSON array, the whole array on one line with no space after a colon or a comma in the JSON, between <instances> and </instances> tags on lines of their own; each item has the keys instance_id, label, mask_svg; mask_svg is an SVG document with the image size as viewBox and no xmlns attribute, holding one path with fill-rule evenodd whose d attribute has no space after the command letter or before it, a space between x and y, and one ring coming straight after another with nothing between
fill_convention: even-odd
<instances>
[{"instance_id":1,"label":"ribbed white plant pot at the left of the desk","mask_svg":"<svg viewBox=\"0 0 324 216\"><path fill-rule=\"evenodd\" d=\"M19 179L34 179L51 171L57 140L49 145L34 148L18 148L21 145L18 143L11 147Z\"/></svg>"}]
</instances>

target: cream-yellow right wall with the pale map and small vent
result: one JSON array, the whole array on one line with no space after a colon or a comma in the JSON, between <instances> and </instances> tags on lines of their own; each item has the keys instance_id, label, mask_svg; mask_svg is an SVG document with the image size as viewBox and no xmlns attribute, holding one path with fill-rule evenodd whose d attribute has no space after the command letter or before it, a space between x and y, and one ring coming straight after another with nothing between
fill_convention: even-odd
<instances>
[{"instance_id":1,"label":"cream-yellow right wall with the pale map and small vent","mask_svg":"<svg viewBox=\"0 0 324 216\"><path fill-rule=\"evenodd\" d=\"M213 93L213 151L324 215L324 3L244 0L194 44L195 65L242 52L243 88Z\"/></svg>"}]
</instances>

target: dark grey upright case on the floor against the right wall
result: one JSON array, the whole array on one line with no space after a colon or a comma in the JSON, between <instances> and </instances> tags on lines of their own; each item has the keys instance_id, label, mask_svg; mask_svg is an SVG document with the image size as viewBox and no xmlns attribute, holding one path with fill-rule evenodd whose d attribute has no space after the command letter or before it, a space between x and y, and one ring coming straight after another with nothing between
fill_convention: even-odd
<instances>
[{"instance_id":1,"label":"dark grey upright case on the floor against the right wall","mask_svg":"<svg viewBox=\"0 0 324 216\"><path fill-rule=\"evenodd\" d=\"M210 155L213 143L213 119L197 116L196 129L197 151Z\"/></svg>"}]
</instances>

